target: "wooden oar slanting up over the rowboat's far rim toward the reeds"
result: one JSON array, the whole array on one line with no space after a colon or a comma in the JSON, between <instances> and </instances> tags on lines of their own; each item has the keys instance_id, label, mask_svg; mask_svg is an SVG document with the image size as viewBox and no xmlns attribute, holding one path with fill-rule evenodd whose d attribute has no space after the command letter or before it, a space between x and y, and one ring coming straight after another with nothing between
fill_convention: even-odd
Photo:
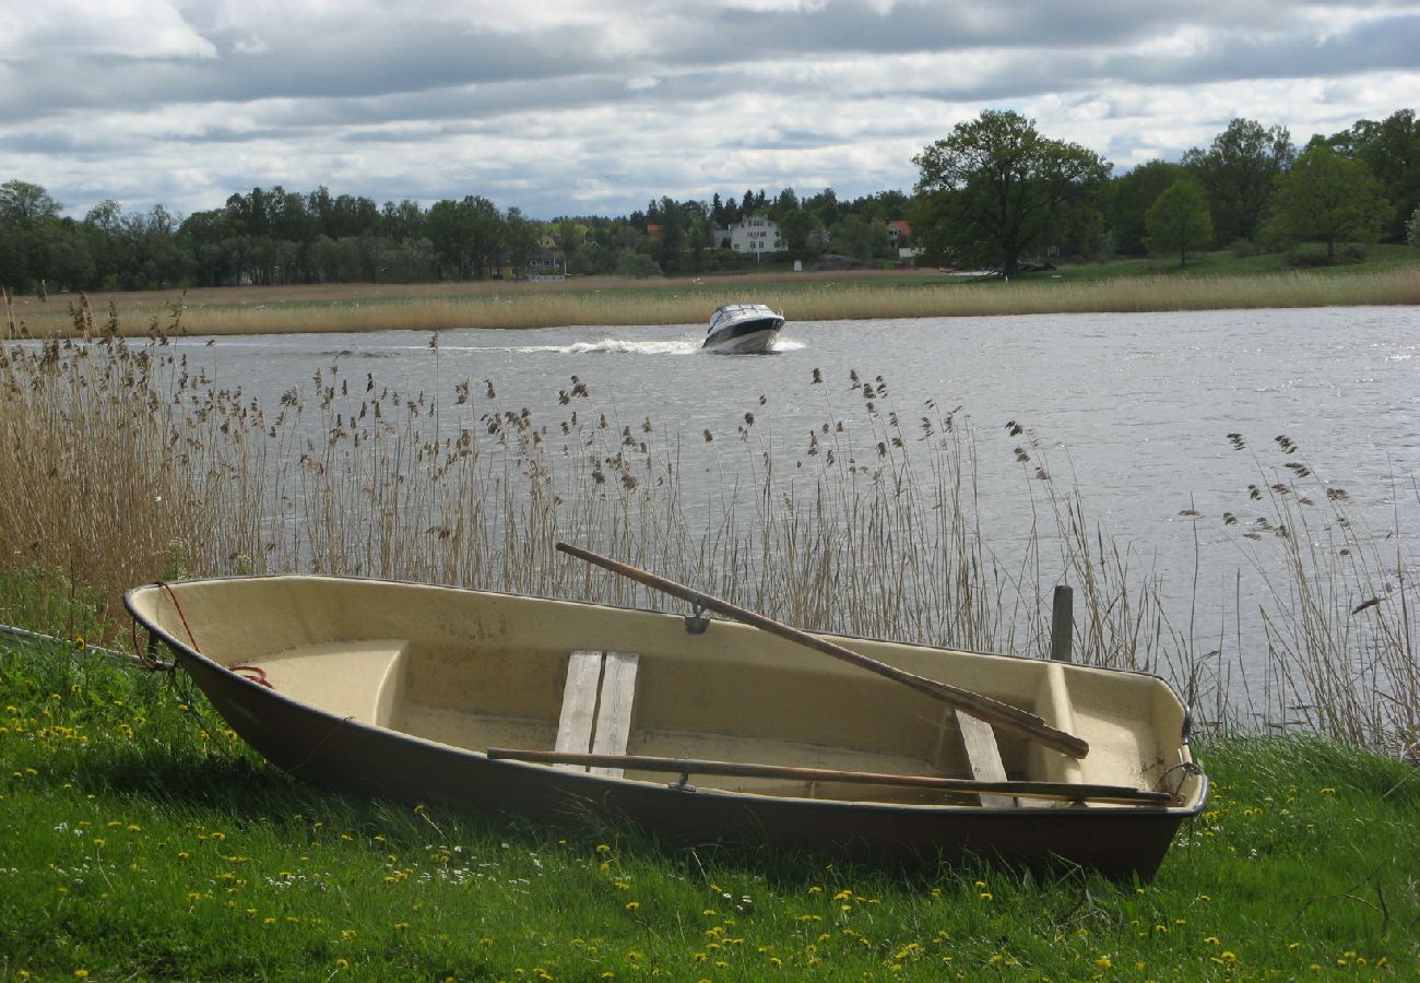
<instances>
[{"instance_id":1,"label":"wooden oar slanting up over the rowboat's far rim toward the reeds","mask_svg":"<svg viewBox=\"0 0 1420 983\"><path fill-rule=\"evenodd\" d=\"M960 686L951 686L950 683L940 683L936 679L927 679L926 676L919 676L896 666L890 666L886 662L870 659L866 655L846 649L842 645L835 645L834 642L819 638L818 635L809 635L798 628L790 628L788 625L774 621L772 618L765 618L761 614L730 604L728 601L721 601L720 598L710 597L709 594L701 594L700 591L689 588L684 584L677 584L676 581L657 577L649 571L618 563L616 560L611 560L609 557L599 555L589 550L584 550L568 543L558 543L557 548L569 555L594 563L598 567L605 567L606 570L618 572L622 577L629 577L630 580L645 584L646 587L653 587L657 591L665 591L666 594L679 597L699 608L704 608L706 611L716 611L727 618L734 618L736 621L743 621L747 625L767 631L771 635L787 638L791 642L798 642L799 645L807 645L808 648L824 652L825 655L832 655L835 659L842 659L843 662L851 662L852 665L868 669L869 672L876 672L879 676L910 686L919 693L934 696L943 703L957 707L963 713L970 713L971 716L985 720L997 727L1014 730L1015 733L1030 737L1031 740L1061 751L1062 754L1069 754L1071 757L1085 757L1089 753L1089 744L1085 740L1076 737L1075 734L1068 734L1064 730L1058 730L1034 713L1011 706L1010 703L1003 703L1001 700L991 699L983 693L974 693L970 689L961 689Z\"/></svg>"}]
</instances>

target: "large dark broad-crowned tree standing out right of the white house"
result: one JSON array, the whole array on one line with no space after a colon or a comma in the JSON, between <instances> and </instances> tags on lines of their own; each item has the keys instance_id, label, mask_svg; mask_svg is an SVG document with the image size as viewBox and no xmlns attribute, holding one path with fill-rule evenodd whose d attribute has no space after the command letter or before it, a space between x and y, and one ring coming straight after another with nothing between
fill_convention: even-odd
<instances>
[{"instance_id":1,"label":"large dark broad-crowned tree standing out right of the white house","mask_svg":"<svg viewBox=\"0 0 1420 983\"><path fill-rule=\"evenodd\" d=\"M913 233L929 254L995 263L1007 276L1027 250L1051 244L1069 212L1092 206L1109 163L1052 141L1035 121L985 109L913 158L922 172Z\"/></svg>"}]
</instances>

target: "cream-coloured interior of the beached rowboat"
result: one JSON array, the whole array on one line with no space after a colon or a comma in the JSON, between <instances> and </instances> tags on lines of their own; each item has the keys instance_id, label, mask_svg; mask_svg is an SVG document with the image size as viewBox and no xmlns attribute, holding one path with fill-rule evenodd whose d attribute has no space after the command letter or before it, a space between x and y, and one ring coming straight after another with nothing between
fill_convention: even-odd
<instances>
[{"instance_id":1,"label":"cream-coloured interior of the beached rowboat","mask_svg":"<svg viewBox=\"0 0 1420 983\"><path fill-rule=\"evenodd\" d=\"M338 717L470 751L655 756L1200 794L1184 707L1160 679L1039 659L828 636L1030 710L1082 759L760 629L679 614L416 584L261 577L141 588L135 614L224 666ZM596 774L657 784L666 770ZM555 767L586 770L561 763ZM832 800L1068 803L784 776L690 773L701 788ZM1092 803L1091 807L1125 808Z\"/></svg>"}]
</instances>

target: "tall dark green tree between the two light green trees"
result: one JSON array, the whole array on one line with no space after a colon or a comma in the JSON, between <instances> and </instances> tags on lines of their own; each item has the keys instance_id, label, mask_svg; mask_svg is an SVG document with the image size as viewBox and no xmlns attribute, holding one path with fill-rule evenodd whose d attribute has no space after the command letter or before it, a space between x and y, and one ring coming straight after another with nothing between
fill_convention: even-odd
<instances>
[{"instance_id":1,"label":"tall dark green tree between the two light green trees","mask_svg":"<svg viewBox=\"0 0 1420 983\"><path fill-rule=\"evenodd\" d=\"M1254 119L1234 119L1207 151L1193 148L1183 155L1208 196L1218 241L1257 237L1274 182L1295 156L1285 126L1264 129Z\"/></svg>"}]
</instances>

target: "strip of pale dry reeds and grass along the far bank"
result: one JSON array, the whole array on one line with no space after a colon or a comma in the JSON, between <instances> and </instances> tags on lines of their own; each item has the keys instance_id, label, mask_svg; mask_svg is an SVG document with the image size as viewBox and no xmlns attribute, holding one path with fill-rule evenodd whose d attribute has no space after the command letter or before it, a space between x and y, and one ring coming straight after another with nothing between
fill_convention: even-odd
<instances>
[{"instance_id":1,"label":"strip of pale dry reeds and grass along the far bank","mask_svg":"<svg viewBox=\"0 0 1420 983\"><path fill-rule=\"evenodd\" d=\"M1191 267L1159 260L1068 266L1014 281L936 270L763 273L727 277L561 283L328 284L220 287L87 298L77 324L70 295L17 297L0 330L10 337L72 337L85 330L128 335L277 334L412 328L545 328L700 324L719 304L758 300L792 321L988 317L1096 311L1420 304L1420 254L1376 247L1370 260L1321 271L1287 271L1278 257L1210 253ZM179 317L180 315L180 317Z\"/></svg>"}]
</instances>

